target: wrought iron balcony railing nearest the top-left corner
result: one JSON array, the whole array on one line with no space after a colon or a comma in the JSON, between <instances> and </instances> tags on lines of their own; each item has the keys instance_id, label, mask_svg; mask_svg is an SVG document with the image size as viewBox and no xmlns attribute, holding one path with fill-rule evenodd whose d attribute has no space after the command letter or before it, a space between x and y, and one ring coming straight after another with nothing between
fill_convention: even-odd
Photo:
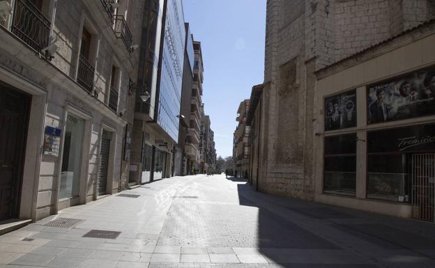
<instances>
[{"instance_id":1,"label":"wrought iron balcony railing nearest the top-left corner","mask_svg":"<svg viewBox=\"0 0 435 268\"><path fill-rule=\"evenodd\" d=\"M37 52L47 47L51 24L29 0L15 1L11 31Z\"/></svg>"}]
</instances>

